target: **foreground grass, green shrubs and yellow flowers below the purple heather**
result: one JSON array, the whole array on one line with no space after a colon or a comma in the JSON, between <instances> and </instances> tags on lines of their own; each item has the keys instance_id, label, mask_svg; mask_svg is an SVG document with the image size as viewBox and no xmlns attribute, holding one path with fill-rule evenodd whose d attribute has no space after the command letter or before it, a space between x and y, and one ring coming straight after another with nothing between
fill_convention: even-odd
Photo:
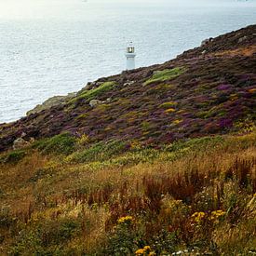
<instances>
[{"instance_id":1,"label":"foreground grass, green shrubs and yellow flowers below the purple heather","mask_svg":"<svg viewBox=\"0 0 256 256\"><path fill-rule=\"evenodd\" d=\"M46 144L42 153L27 148L19 164L1 163L1 254L255 251L255 131L161 148L89 145L84 136L73 150L61 144L67 156Z\"/></svg>"}]
</instances>

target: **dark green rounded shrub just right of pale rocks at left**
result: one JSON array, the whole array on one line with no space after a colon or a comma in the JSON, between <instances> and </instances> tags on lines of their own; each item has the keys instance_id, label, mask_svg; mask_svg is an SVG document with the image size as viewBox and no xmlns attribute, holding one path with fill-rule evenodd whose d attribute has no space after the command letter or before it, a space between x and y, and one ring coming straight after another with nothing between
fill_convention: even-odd
<instances>
[{"instance_id":1,"label":"dark green rounded shrub just right of pale rocks at left","mask_svg":"<svg viewBox=\"0 0 256 256\"><path fill-rule=\"evenodd\" d=\"M76 139L68 132L61 133L50 139L36 141L34 147L44 154L70 155L74 152Z\"/></svg>"}]
</instances>

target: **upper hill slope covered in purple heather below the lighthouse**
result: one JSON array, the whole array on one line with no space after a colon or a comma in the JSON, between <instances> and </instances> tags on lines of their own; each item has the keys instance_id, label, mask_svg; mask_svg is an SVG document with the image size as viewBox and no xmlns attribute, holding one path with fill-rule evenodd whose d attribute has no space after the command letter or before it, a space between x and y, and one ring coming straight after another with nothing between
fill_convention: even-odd
<instances>
[{"instance_id":1,"label":"upper hill slope covered in purple heather below the lighthouse","mask_svg":"<svg viewBox=\"0 0 256 256\"><path fill-rule=\"evenodd\" d=\"M164 64L101 78L65 105L2 125L0 151L22 132L27 139L70 131L145 144L225 133L255 118L255 34L249 26ZM103 102L93 108L91 100Z\"/></svg>"}]
</instances>

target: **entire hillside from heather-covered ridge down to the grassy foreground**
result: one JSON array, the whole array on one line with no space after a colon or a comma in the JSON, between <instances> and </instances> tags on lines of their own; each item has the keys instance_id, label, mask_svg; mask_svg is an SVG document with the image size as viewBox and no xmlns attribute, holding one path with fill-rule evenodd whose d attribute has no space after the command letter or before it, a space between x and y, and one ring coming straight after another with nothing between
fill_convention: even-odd
<instances>
[{"instance_id":1,"label":"entire hillside from heather-covered ridge down to the grassy foreground","mask_svg":"<svg viewBox=\"0 0 256 256\"><path fill-rule=\"evenodd\" d=\"M255 253L255 38L221 35L0 125L0 254Z\"/></svg>"}]
</instances>

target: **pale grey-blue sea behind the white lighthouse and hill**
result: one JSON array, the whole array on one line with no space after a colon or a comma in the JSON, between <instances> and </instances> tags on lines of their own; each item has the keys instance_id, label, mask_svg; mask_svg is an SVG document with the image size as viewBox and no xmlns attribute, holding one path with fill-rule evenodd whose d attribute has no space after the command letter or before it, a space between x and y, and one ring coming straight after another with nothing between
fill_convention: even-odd
<instances>
[{"instance_id":1,"label":"pale grey-blue sea behind the white lighthouse and hill","mask_svg":"<svg viewBox=\"0 0 256 256\"><path fill-rule=\"evenodd\" d=\"M209 36L256 23L256 5L251 3L4 1L0 0L0 123L20 118L51 96L120 73L130 40L140 67L168 61Z\"/></svg>"}]
</instances>

